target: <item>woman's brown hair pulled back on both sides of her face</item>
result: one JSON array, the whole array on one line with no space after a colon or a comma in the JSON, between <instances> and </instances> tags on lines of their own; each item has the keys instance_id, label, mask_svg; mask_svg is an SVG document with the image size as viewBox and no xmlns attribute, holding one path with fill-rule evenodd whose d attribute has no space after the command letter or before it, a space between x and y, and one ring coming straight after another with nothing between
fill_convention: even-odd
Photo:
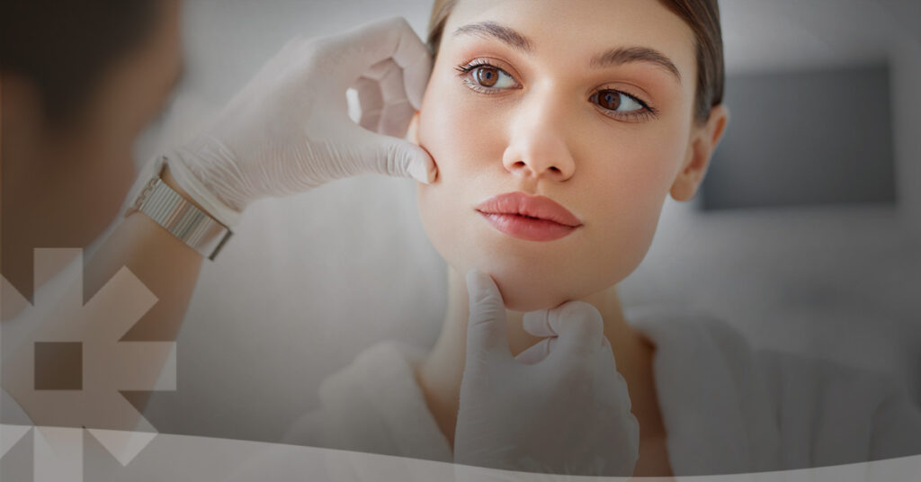
<instances>
[{"instance_id":1,"label":"woman's brown hair pulled back on both sides of her face","mask_svg":"<svg viewBox=\"0 0 921 482\"><path fill-rule=\"evenodd\" d=\"M719 26L717 0L659 0L694 30L697 57L697 88L694 92L694 119L705 123L710 109L723 102L726 83L723 65L723 33ZM438 54L441 34L457 0L435 0L428 22L426 42L433 55Z\"/></svg>"}]
</instances>

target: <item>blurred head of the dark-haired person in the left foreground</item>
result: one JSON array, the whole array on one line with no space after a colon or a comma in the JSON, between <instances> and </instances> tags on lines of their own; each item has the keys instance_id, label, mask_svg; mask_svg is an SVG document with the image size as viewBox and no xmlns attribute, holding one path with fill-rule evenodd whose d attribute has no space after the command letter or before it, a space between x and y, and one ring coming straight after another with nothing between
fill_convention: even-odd
<instances>
[{"instance_id":1,"label":"blurred head of the dark-haired person in the left foreground","mask_svg":"<svg viewBox=\"0 0 921 482\"><path fill-rule=\"evenodd\" d=\"M86 246L117 214L134 140L180 73L179 11L179 0L0 6L4 275L30 271L24 250Z\"/></svg>"}]
</instances>

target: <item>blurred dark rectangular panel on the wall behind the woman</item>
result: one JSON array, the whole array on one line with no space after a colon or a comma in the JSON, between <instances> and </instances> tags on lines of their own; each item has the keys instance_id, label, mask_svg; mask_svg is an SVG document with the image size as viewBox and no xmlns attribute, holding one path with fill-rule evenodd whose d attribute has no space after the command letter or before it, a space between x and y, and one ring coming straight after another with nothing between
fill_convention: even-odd
<instances>
[{"instance_id":1,"label":"blurred dark rectangular panel on the wall behind the woman","mask_svg":"<svg viewBox=\"0 0 921 482\"><path fill-rule=\"evenodd\" d=\"M705 210L895 202L886 66L729 76Z\"/></svg>"}]
</instances>

